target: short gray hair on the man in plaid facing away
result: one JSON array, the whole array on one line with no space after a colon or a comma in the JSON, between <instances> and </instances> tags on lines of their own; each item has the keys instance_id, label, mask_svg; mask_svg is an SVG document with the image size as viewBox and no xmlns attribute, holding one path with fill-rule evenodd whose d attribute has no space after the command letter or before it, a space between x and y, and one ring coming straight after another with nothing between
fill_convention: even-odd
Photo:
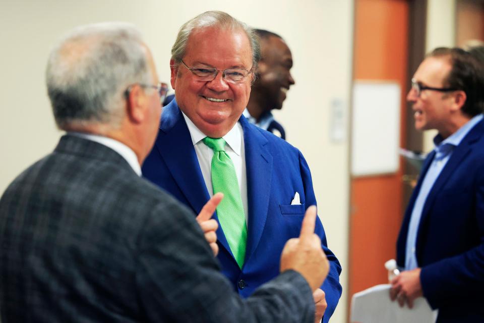
<instances>
[{"instance_id":1,"label":"short gray hair on the man in plaid facing away","mask_svg":"<svg viewBox=\"0 0 484 323\"><path fill-rule=\"evenodd\" d=\"M126 23L81 26L64 36L45 72L57 127L118 128L128 86L153 81L146 50L140 32Z\"/></svg>"}]
</instances>

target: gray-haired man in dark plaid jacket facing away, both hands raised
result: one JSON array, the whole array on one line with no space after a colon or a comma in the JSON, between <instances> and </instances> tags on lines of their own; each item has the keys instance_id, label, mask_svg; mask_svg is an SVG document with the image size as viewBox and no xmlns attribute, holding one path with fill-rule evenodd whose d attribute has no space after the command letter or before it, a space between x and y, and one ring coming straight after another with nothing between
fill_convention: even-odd
<instances>
[{"instance_id":1,"label":"gray-haired man in dark plaid jacket facing away, both hands raised","mask_svg":"<svg viewBox=\"0 0 484 323\"><path fill-rule=\"evenodd\" d=\"M283 250L281 274L243 300L213 257L217 223L208 219L222 194L199 226L139 177L161 106L133 27L74 30L51 52L46 78L67 134L0 199L3 323L313 321L312 291L328 272L314 206Z\"/></svg>"}]
</instances>

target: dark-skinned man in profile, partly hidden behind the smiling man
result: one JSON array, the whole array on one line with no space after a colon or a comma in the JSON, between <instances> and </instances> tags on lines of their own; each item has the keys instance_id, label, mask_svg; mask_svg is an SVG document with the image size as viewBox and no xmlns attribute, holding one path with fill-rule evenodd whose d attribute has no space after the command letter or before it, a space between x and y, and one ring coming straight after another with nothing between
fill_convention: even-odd
<instances>
[{"instance_id":1,"label":"dark-skinned man in profile, partly hidden behind the smiling man","mask_svg":"<svg viewBox=\"0 0 484 323\"><path fill-rule=\"evenodd\" d=\"M274 119L271 111L282 109L286 92L295 83L290 72L291 51L278 34L263 29L254 31L259 37L261 59L244 116L256 126L285 140L284 128Z\"/></svg>"}]
</instances>

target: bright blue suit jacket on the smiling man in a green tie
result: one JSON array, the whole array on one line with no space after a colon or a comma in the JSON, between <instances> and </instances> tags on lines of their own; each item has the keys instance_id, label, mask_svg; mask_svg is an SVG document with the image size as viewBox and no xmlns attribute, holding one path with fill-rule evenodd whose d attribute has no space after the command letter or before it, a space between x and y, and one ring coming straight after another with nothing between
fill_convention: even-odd
<instances>
[{"instance_id":1,"label":"bright blue suit jacket on the smiling man in a green tie","mask_svg":"<svg viewBox=\"0 0 484 323\"><path fill-rule=\"evenodd\" d=\"M316 198L309 167L299 150L250 124L243 116L239 122L244 131L249 204L246 260L240 270L220 226L217 257L234 289L248 297L279 274L283 246L289 238L298 237L305 210L316 204ZM191 207L195 214L210 198L190 132L175 100L163 108L158 137L142 170L147 179ZM301 205L290 205L295 192L300 195ZM330 272L322 286L328 303L324 315L327 322L341 296L341 266L327 248L319 219L315 232L330 261Z\"/></svg>"}]
</instances>

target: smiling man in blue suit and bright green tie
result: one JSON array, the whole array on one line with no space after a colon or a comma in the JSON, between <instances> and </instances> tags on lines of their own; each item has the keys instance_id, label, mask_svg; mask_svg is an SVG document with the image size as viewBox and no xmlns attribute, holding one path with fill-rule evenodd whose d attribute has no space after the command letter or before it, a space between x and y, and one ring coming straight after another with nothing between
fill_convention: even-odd
<instances>
[{"instance_id":1,"label":"smiling man in blue suit and bright green tie","mask_svg":"<svg viewBox=\"0 0 484 323\"><path fill-rule=\"evenodd\" d=\"M241 116L260 57L252 29L222 12L181 26L171 50L175 99L163 108L143 175L196 213L216 192L218 259L247 297L279 273L287 239L297 237L308 206L316 204L311 174L299 150ZM316 233L330 261L316 290L315 320L327 322L341 296L341 266ZM227 309L230 310L230 309Z\"/></svg>"}]
</instances>

